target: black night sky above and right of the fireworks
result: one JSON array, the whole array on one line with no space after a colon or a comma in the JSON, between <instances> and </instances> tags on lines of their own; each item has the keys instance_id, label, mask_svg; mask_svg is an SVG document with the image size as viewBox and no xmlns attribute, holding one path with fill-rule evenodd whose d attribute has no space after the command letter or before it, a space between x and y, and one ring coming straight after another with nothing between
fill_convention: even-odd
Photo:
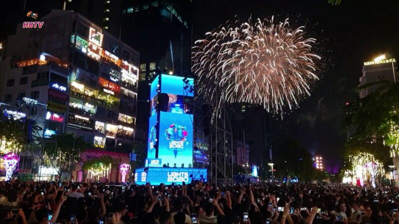
<instances>
[{"instance_id":1,"label":"black night sky above and right of the fireworks","mask_svg":"<svg viewBox=\"0 0 399 224\"><path fill-rule=\"evenodd\" d=\"M332 6L327 0L200 0L194 8L195 40L235 15L241 21L250 15L275 15L279 20L290 17L293 26L306 25L305 30L321 41L318 47L325 49L321 56L328 70L300 108L275 120L273 134L290 135L309 152L324 156L330 172L338 172L342 163L342 108L357 97L354 89L363 62L381 53L399 58L399 1L342 1Z\"/></svg>"}]
</instances>

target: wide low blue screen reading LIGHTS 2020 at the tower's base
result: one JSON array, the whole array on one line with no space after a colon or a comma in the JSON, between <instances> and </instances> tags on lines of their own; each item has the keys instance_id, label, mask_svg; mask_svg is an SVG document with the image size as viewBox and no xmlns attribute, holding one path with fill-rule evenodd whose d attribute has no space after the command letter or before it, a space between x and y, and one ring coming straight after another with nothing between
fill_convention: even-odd
<instances>
[{"instance_id":1,"label":"wide low blue screen reading LIGHTS 2020 at the tower's base","mask_svg":"<svg viewBox=\"0 0 399 224\"><path fill-rule=\"evenodd\" d=\"M190 175L193 175L193 178ZM152 185L160 185L161 183L171 185L172 183L182 184L183 181L188 184L191 183L192 179L201 179L202 182L207 182L206 169L150 167L147 173L144 172L143 168L136 169L135 173L136 184L146 184L149 182Z\"/></svg>"}]
</instances>

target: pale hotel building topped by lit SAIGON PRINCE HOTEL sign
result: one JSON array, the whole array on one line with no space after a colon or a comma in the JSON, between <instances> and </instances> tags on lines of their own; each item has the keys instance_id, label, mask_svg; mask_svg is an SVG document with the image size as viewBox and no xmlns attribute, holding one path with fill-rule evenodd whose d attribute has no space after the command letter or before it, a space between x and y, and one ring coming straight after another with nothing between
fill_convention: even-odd
<instances>
[{"instance_id":1,"label":"pale hotel building topped by lit SAIGON PRINCE HOTEL sign","mask_svg":"<svg viewBox=\"0 0 399 224\"><path fill-rule=\"evenodd\" d=\"M390 81L397 82L396 80L396 60L395 58L386 59L385 55L381 55L375 58L373 61L368 61L364 63L363 66L363 76L360 77L360 86L365 84L378 82L378 81ZM370 93L373 93L378 89L378 85L369 87L367 89L361 90L359 93L360 98L365 98Z\"/></svg>"}]
</instances>

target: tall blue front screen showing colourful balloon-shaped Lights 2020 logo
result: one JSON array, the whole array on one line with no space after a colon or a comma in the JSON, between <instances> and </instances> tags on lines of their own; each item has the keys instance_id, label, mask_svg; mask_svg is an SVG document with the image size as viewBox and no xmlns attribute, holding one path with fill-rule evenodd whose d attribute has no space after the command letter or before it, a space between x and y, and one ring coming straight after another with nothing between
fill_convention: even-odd
<instances>
[{"instance_id":1,"label":"tall blue front screen showing colourful balloon-shaped Lights 2020 logo","mask_svg":"<svg viewBox=\"0 0 399 224\"><path fill-rule=\"evenodd\" d=\"M158 158L180 168L193 165L193 115L160 112Z\"/></svg>"}]
</instances>

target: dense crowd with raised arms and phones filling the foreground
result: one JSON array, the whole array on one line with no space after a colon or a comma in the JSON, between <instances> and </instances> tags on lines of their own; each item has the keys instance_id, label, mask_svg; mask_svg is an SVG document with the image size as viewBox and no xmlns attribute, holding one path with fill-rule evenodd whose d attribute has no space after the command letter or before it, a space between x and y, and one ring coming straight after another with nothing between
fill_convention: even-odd
<instances>
[{"instance_id":1,"label":"dense crowd with raised arms and phones filling the foreground","mask_svg":"<svg viewBox=\"0 0 399 224\"><path fill-rule=\"evenodd\" d=\"M399 224L396 189L341 184L14 181L0 204L0 224Z\"/></svg>"}]
</instances>

